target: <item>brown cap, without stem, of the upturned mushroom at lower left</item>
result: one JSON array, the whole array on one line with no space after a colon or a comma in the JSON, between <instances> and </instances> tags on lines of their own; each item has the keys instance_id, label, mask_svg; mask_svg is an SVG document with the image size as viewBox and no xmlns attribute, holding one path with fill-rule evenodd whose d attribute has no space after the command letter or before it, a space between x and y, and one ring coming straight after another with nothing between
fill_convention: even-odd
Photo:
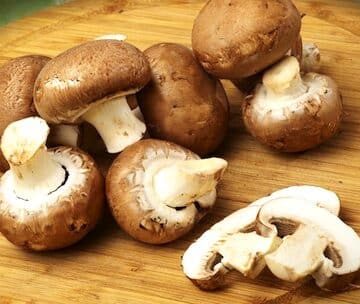
<instances>
[{"instance_id":1,"label":"brown cap, without stem, of the upturned mushroom at lower left","mask_svg":"<svg viewBox=\"0 0 360 304\"><path fill-rule=\"evenodd\" d=\"M11 171L0 180L0 232L15 245L38 251L83 238L98 222L104 203L103 177L88 154L67 147L48 151L68 171L66 182L53 193L25 201L11 188Z\"/></svg>"}]
</instances>

